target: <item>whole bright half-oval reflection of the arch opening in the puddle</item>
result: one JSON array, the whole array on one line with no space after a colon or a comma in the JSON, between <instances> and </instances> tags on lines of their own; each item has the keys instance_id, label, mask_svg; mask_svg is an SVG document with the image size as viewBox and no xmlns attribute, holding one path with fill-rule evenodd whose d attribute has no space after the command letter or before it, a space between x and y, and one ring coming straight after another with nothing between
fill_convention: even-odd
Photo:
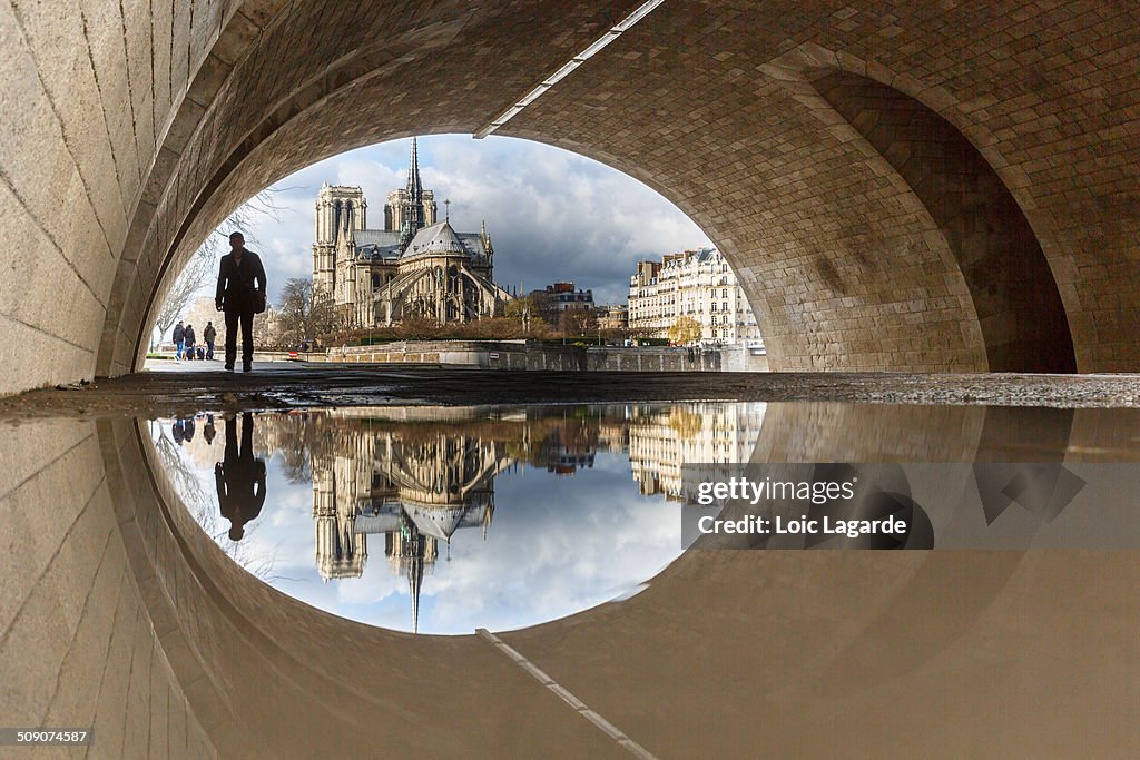
<instances>
[{"instance_id":1,"label":"whole bright half-oval reflection of the arch opening in the puddle","mask_svg":"<svg viewBox=\"0 0 1140 760\"><path fill-rule=\"evenodd\" d=\"M764 411L359 408L152 422L150 436L203 530L275 588L470 634L636 593L681 554L682 463L747 461Z\"/></svg>"}]
</instances>

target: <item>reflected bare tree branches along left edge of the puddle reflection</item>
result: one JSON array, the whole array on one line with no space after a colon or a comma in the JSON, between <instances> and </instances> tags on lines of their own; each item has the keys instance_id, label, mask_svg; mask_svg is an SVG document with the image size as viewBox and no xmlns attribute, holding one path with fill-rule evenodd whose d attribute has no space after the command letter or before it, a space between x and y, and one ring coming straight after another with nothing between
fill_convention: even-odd
<instances>
[{"instance_id":1,"label":"reflected bare tree branches along left edge of the puddle reflection","mask_svg":"<svg viewBox=\"0 0 1140 760\"><path fill-rule=\"evenodd\" d=\"M163 471L170 479L174 491L182 498L190 516L202 526L210 538L229 555L229 558L245 569L255 578L269 583L278 580L274 574L274 565L277 563L277 553L270 555L258 554L253 550L249 540L234 542L225 539L228 528L223 524L221 514L218 510L217 497L213 490L203 487L198 475L189 466L187 459L166 430L157 420L150 423L150 440L158 452ZM246 531L246 537L256 530L256 525Z\"/></svg>"}]
</instances>

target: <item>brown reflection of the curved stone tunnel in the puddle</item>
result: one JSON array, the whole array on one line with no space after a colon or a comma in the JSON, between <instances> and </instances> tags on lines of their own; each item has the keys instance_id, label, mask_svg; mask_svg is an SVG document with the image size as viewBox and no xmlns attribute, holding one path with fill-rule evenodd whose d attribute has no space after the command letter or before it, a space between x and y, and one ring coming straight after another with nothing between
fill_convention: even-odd
<instances>
[{"instance_id":1,"label":"brown reflection of the curved stone tunnel in the puddle","mask_svg":"<svg viewBox=\"0 0 1140 760\"><path fill-rule=\"evenodd\" d=\"M1058 412L1048 441L1037 414L771 404L757 456L1134 457L1132 411ZM628 757L480 637L270 589L153 457L129 419L0 439L6 724L95 726L95 758ZM754 754L758 736L780 754L1134 754L1137 582L1119 550L692 550L632 598L499 637L661 758Z\"/></svg>"}]
</instances>

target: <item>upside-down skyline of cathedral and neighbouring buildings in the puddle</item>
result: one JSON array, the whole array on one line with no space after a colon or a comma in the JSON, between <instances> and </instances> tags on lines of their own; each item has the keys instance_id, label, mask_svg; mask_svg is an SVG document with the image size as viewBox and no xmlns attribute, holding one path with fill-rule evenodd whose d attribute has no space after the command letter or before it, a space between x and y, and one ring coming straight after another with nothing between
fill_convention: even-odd
<instances>
[{"instance_id":1,"label":"upside-down skyline of cathedral and neighbouring buildings in the puddle","mask_svg":"<svg viewBox=\"0 0 1140 760\"><path fill-rule=\"evenodd\" d=\"M424 579L440 554L447 556L453 537L470 532L486 540L500 473L530 466L571 476L589 471L600 455L628 452L642 495L684 500L682 463L747 461L763 416L763 404L711 403L508 416L477 408L356 408L270 417L258 434L259 449L282 453L286 476L311 479L320 578L360 578L369 537L383 536L389 569L407 580L415 631Z\"/></svg>"}]
</instances>

